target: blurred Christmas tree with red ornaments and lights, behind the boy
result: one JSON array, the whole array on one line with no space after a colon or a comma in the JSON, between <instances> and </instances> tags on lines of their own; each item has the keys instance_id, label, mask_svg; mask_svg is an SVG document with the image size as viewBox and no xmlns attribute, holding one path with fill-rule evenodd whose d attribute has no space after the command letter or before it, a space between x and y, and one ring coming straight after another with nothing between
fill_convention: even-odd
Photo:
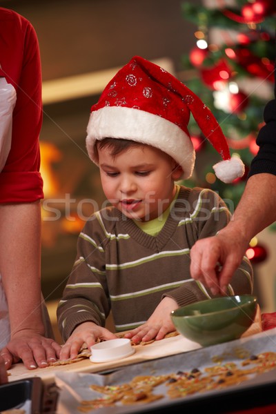
<instances>
[{"instance_id":1,"label":"blurred Christmas tree with red ornaments and lights, behind the boy","mask_svg":"<svg viewBox=\"0 0 276 414\"><path fill-rule=\"evenodd\" d=\"M263 110L273 99L275 0L202 0L182 3L184 19L197 26L195 46L183 57L192 76L183 79L213 112L228 140L230 153L242 158L244 177L224 184L215 177L217 152L201 136L193 117L191 139L197 152L195 172L186 186L217 191L233 210L242 196L250 162L257 153ZM232 203L232 205L231 205ZM233 212L233 211L232 211Z\"/></svg>"}]
</instances>

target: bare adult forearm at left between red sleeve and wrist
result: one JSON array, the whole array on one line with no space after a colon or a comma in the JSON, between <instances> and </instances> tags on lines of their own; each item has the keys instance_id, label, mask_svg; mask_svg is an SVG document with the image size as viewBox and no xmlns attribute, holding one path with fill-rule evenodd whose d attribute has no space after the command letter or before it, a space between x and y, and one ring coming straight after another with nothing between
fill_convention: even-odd
<instances>
[{"instance_id":1,"label":"bare adult forearm at left between red sleeve and wrist","mask_svg":"<svg viewBox=\"0 0 276 414\"><path fill-rule=\"evenodd\" d=\"M12 335L30 328L44 333L41 319L40 203L0 205L0 273Z\"/></svg>"}]
</instances>

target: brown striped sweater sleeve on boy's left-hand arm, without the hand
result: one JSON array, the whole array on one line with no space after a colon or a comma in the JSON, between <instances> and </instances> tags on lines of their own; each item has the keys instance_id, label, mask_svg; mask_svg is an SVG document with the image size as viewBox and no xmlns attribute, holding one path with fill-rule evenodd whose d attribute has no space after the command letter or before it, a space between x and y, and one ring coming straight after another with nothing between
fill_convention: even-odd
<instances>
[{"instance_id":1,"label":"brown striped sweater sleeve on boy's left-hand arm, without the hand","mask_svg":"<svg viewBox=\"0 0 276 414\"><path fill-rule=\"evenodd\" d=\"M96 241L98 230L95 220L88 221L77 241L77 258L57 308L57 322L64 342L83 322L104 326L110 313L105 253L99 242L104 235L100 234Z\"/></svg>"}]
</instances>

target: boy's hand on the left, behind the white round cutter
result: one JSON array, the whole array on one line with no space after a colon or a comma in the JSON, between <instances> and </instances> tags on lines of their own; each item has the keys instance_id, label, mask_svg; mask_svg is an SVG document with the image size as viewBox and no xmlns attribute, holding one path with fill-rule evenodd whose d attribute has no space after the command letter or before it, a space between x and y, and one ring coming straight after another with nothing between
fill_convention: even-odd
<instances>
[{"instance_id":1,"label":"boy's hand on the left, behind the white round cutter","mask_svg":"<svg viewBox=\"0 0 276 414\"><path fill-rule=\"evenodd\" d=\"M61 348L60 359L68 359L77 357L81 346L84 343L90 348L95 345L98 339L108 340L116 339L117 336L106 328L96 325L94 322L83 322L75 328L66 344Z\"/></svg>"}]
</instances>

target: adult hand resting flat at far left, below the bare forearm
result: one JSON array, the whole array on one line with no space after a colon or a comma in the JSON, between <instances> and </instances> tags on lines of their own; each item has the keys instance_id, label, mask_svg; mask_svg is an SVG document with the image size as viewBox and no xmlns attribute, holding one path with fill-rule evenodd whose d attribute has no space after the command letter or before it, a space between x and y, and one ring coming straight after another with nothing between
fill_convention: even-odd
<instances>
[{"instance_id":1,"label":"adult hand resting flat at far left, below the bare forearm","mask_svg":"<svg viewBox=\"0 0 276 414\"><path fill-rule=\"evenodd\" d=\"M53 339L24 330L12 335L10 342L0 351L6 368L22 360L28 369L45 368L59 357L61 346Z\"/></svg>"}]
</instances>

